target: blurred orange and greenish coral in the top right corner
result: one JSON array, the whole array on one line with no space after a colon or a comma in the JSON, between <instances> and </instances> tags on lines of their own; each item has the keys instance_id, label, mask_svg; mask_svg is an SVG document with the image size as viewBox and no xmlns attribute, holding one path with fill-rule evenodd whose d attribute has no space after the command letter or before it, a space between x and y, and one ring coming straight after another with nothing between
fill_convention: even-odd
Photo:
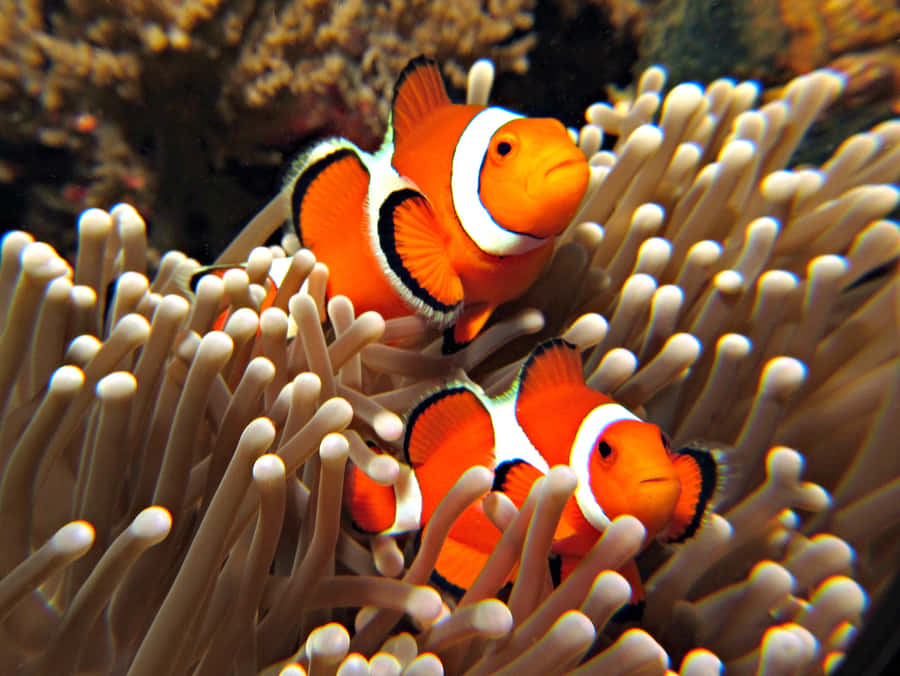
<instances>
[{"instance_id":1,"label":"blurred orange and greenish coral in the top right corner","mask_svg":"<svg viewBox=\"0 0 900 676\"><path fill-rule=\"evenodd\" d=\"M831 68L848 79L833 127L804 151L821 163L851 132L891 118L900 101L896 40L900 8L877 0L598 0L638 43L637 69L665 64L676 81L731 76L758 80L766 96L796 75ZM622 27L621 22L617 25ZM832 120L833 121L833 120Z\"/></svg>"}]
</instances>

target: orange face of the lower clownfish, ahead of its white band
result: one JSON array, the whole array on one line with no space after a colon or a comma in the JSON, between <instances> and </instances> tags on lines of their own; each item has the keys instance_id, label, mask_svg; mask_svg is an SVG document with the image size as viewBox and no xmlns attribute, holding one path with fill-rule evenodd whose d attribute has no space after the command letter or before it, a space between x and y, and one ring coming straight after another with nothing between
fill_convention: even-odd
<instances>
[{"instance_id":1,"label":"orange face of the lower clownfish, ahead of its white band","mask_svg":"<svg viewBox=\"0 0 900 676\"><path fill-rule=\"evenodd\" d=\"M660 429L620 420L596 439L589 459L591 492L610 519L638 518L652 537L670 522L681 480Z\"/></svg>"}]
</instances>

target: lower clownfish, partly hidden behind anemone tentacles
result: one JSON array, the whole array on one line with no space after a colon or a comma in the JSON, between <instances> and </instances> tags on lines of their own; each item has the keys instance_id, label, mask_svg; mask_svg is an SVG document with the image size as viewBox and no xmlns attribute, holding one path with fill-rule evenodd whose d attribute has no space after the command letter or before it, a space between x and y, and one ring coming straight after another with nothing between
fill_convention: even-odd
<instances>
[{"instance_id":1,"label":"lower clownfish, partly hidden behind anemone tentacles","mask_svg":"<svg viewBox=\"0 0 900 676\"><path fill-rule=\"evenodd\" d=\"M351 469L345 502L361 530L391 534L424 527L473 465L493 470L492 490L518 507L551 467L571 467L577 487L551 547L557 582L622 514L644 524L645 543L691 537L719 476L710 452L673 450L659 427L585 385L578 350L561 339L535 349L499 398L468 385L427 397L408 416L403 450L411 471L396 486L378 485ZM444 543L435 582L457 594L468 589L500 536L480 502L468 507ZM644 595L637 567L632 561L620 572L631 584L632 610L639 612Z\"/></svg>"}]
</instances>

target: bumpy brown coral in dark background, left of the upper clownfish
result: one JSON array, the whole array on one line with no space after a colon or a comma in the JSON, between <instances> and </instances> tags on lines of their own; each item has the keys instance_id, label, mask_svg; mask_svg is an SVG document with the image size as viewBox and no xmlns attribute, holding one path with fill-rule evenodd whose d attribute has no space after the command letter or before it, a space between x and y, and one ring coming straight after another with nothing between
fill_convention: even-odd
<instances>
[{"instance_id":1,"label":"bumpy brown coral in dark background, left of the upper clownfish","mask_svg":"<svg viewBox=\"0 0 900 676\"><path fill-rule=\"evenodd\" d=\"M479 56L524 71L532 4L2 0L3 174L31 193L38 222L41 207L125 199L152 217L160 248L200 250L190 230L204 225L203 239L225 242L253 208L226 164L275 173L312 134L375 145L393 79L419 53L457 86Z\"/></svg>"}]
</instances>

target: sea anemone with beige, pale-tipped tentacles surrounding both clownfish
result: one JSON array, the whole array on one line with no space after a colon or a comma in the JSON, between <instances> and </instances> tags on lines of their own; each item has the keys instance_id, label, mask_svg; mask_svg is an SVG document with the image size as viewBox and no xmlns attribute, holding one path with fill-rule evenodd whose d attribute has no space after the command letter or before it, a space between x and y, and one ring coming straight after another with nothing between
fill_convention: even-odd
<instances>
[{"instance_id":1,"label":"sea anemone with beige, pale-tipped tentacles surrounding both clownfish","mask_svg":"<svg viewBox=\"0 0 900 676\"><path fill-rule=\"evenodd\" d=\"M470 98L486 100L490 80L477 64ZM295 238L260 246L279 198L227 252L246 267L194 293L181 280L198 264L178 252L145 276L144 223L127 205L82 214L74 269L8 234L0 661L154 676L839 664L900 562L900 231L882 220L898 201L900 123L820 169L786 170L838 76L801 77L759 109L750 83L665 97L663 85L650 69L629 103L588 109L573 132L592 165L576 223L526 297L452 355L418 318L326 303L328 271ZM604 136L617 137L609 151ZM283 256L287 277L259 313ZM521 509L485 498L503 537L458 602L429 574L490 472L464 474L421 538L342 520L348 462L396 482L409 407L453 378L504 391L539 335L578 346L589 385L676 444L729 460L697 535L640 556L640 626L611 622L629 596L614 571L642 544L633 517L549 581L567 468Z\"/></svg>"}]
</instances>

